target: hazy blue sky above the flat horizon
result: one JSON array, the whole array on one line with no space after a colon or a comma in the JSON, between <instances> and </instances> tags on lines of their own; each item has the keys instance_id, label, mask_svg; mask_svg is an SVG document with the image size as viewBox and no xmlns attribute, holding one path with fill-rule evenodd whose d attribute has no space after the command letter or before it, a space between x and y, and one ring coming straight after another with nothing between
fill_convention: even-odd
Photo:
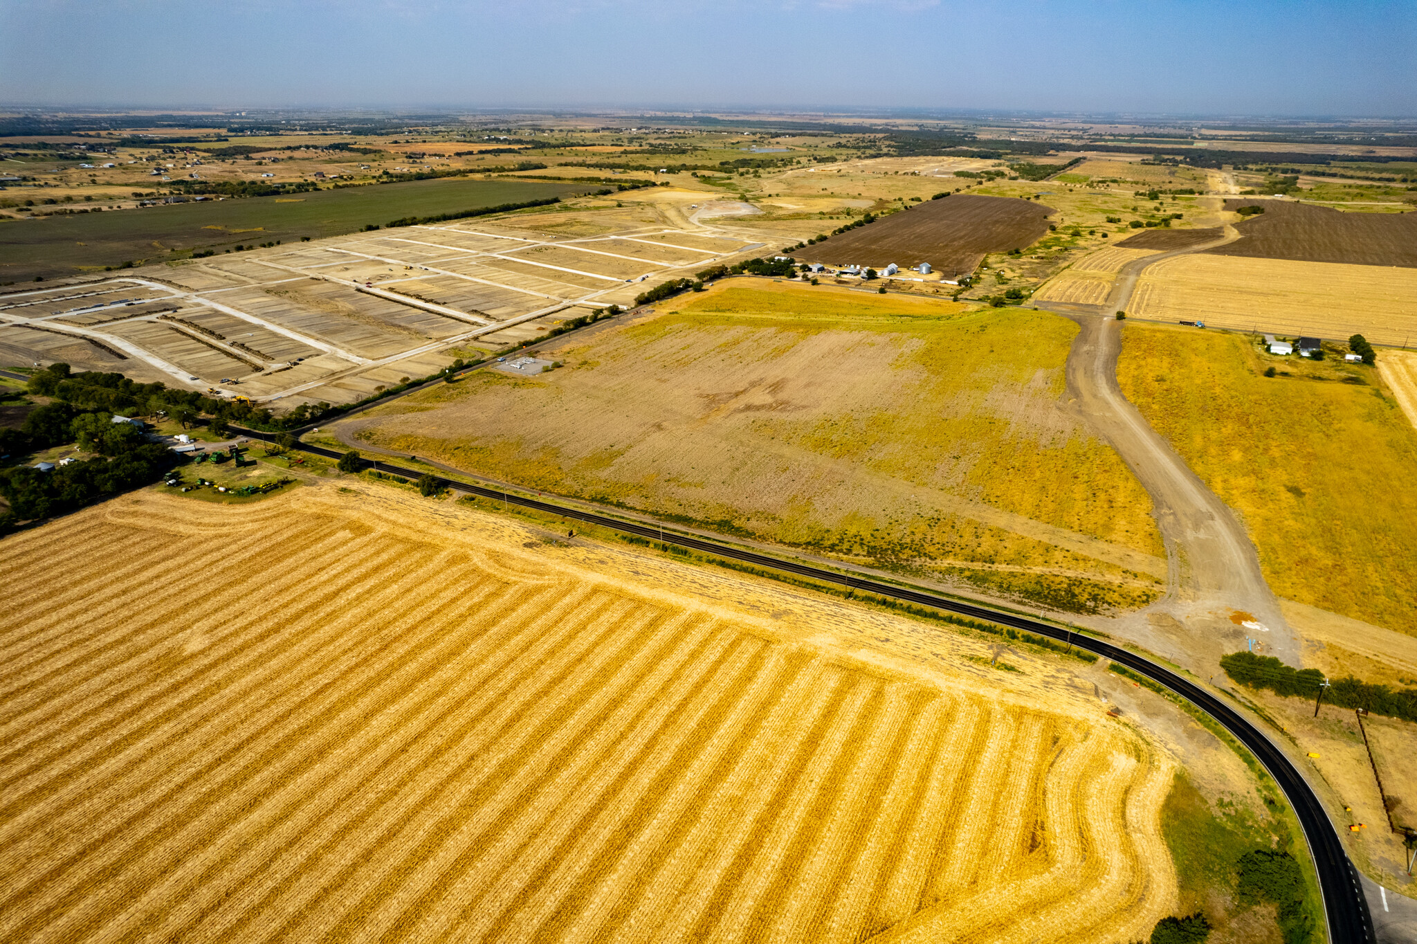
<instances>
[{"instance_id":1,"label":"hazy blue sky above the flat horizon","mask_svg":"<svg viewBox=\"0 0 1417 944\"><path fill-rule=\"evenodd\" d=\"M1417 115L1417 0L0 0L0 99Z\"/></svg>"}]
</instances>

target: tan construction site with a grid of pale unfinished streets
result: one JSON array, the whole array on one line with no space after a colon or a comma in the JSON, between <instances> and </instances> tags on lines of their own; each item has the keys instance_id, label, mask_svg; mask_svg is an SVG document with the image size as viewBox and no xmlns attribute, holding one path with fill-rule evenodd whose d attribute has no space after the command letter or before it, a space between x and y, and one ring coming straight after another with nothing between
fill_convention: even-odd
<instances>
[{"instance_id":1,"label":"tan construction site with a grid of pale unfinished streets","mask_svg":"<svg viewBox=\"0 0 1417 944\"><path fill-rule=\"evenodd\" d=\"M554 215L554 214L547 214ZM351 403L497 352L645 282L754 248L663 225L591 237L523 217L410 225L0 295L0 357L244 395ZM526 217L531 221L536 217Z\"/></svg>"}]
</instances>

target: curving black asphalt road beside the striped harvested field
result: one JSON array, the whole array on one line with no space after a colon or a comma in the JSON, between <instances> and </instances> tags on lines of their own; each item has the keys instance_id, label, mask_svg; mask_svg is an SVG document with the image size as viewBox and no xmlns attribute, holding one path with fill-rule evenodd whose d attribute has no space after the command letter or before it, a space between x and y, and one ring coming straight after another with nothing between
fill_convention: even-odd
<instances>
[{"instance_id":1,"label":"curving black asphalt road beside the striped harvested field","mask_svg":"<svg viewBox=\"0 0 1417 944\"><path fill-rule=\"evenodd\" d=\"M275 439L275 434L265 432L245 432L245 435L255 439ZM320 455L332 459L340 458L340 452L334 449L326 449L323 446L300 444L300 451L313 455ZM408 479L418 479L422 473L414 469L401 468L391 465L388 462L368 461L363 459L363 465L368 468L377 468L380 472L388 475L401 475ZM989 622L1012 626L1015 629L1023 629L1026 632L1033 632L1040 636L1049 636L1050 639L1067 641L1080 649L1087 649L1105 659L1111 659L1128 669L1144 675L1153 682L1158 682L1183 699L1189 700L1192 704L1206 712L1210 717L1219 721L1227 731L1230 731L1236 740L1244 744L1258 760L1264 764L1264 768L1274 777L1280 790L1288 797L1289 805L1294 807L1294 812L1299 819L1299 826L1304 829L1304 836L1309 845L1309 852L1314 855L1314 865L1318 870L1319 886L1323 897L1323 910L1328 917L1328 931L1329 941L1332 944L1376 944L1377 938L1373 931L1373 917L1367 910L1367 900L1363 894L1362 876L1353 863L1349 862L1348 853L1343 850L1343 843L1339 841L1338 832L1333 824L1329 821L1328 814L1323 811L1323 805L1319 798L1314 794L1314 790L1308 785L1299 771L1289 763L1289 760L1280 751L1278 747L1270 743L1258 729L1250 724L1238 712L1233 710L1229 704L1213 696L1210 692L1202 689L1197 685L1186 680L1185 678L1149 662L1134 652L1121 649L1101 639L1093 639L1090 636L1071 634L1066 629L1058 629L1049 624L1036 622L1026 617L1020 617L1012 612L1000 612L998 609L989 609L986 607L979 607L969 602L962 602L956 600L947 600L944 597L935 597L932 594L920 592L905 587L894 587L890 584L881 584L871 580L852 577L849 574L833 573L829 570L822 570L818 567L809 567L806 564L799 564L795 561L779 560L777 557L769 557L767 554L758 554L740 547L731 547L727 544L718 544L714 541L703 540L699 537L690 537L687 534L674 534L670 532L660 533L659 529L648 527L643 524L633 524L631 522L622 522L614 517L605 517L602 515L595 515L594 512L585 512L575 507L565 507L561 505L553 505L551 502L541 502L538 499L526 498L521 495L513 495L510 492L502 492L497 489L483 488L480 485L468 485L465 482L452 482L448 479L441 479L441 482L453 490L468 492L470 495L478 495L480 498L489 499L503 499L510 505L517 505L520 507L529 507L537 512L546 512L548 515L555 515L560 517L568 517L578 522L587 522L589 524L597 524L599 527L609 527L612 530L621 532L623 534L635 534L638 537L648 537L650 540L662 540L669 544L677 544L680 547L687 547L690 550L699 550L708 554L717 554L718 557L728 557L733 560L741 560L748 564L758 567L768 567L772 570L779 570L791 574L798 574L802 577L811 577L812 580L819 580L829 584L837 584L847 587L860 592L876 594L879 597L890 597L893 600L901 600L905 602L920 604L924 607L932 607L935 609L944 609L948 612L956 612L965 617L973 617L976 619L988 619Z\"/></svg>"}]
</instances>

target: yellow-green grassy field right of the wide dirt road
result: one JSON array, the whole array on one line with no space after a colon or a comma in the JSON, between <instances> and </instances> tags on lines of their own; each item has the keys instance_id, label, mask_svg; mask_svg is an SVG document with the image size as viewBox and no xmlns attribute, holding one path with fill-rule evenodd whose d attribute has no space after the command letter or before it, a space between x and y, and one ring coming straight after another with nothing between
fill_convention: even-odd
<instances>
[{"instance_id":1,"label":"yellow-green grassy field right of the wide dirt road","mask_svg":"<svg viewBox=\"0 0 1417 944\"><path fill-rule=\"evenodd\" d=\"M1382 354L1379 354L1382 356ZM1292 376L1265 377L1268 366ZM1417 634L1417 431L1370 369L1128 323L1127 398L1236 509L1281 597ZM1359 383L1343 383L1357 376Z\"/></svg>"}]
</instances>

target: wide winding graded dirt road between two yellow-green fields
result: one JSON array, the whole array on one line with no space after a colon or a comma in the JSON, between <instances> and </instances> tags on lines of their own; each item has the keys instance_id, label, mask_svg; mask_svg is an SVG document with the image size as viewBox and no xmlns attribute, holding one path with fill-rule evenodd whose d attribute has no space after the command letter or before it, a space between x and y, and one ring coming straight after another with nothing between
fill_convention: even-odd
<instances>
[{"instance_id":1,"label":"wide winding graded dirt road between two yellow-green fields","mask_svg":"<svg viewBox=\"0 0 1417 944\"><path fill-rule=\"evenodd\" d=\"M1291 665L1302 665L1298 639L1260 568L1260 554L1244 524L1220 498L1190 471L1138 412L1117 384L1117 357L1122 350L1125 310L1142 271L1176 255L1210 249L1240 238L1234 227L1224 235L1186 249L1161 252L1128 262L1112 288L1107 305L1060 305L1040 302L1077 322L1067 359L1067 398L1078 417L1105 439L1152 498L1156 524L1166 544L1168 597L1159 608L1223 608L1253 614L1265 626L1268 653Z\"/></svg>"}]
</instances>

